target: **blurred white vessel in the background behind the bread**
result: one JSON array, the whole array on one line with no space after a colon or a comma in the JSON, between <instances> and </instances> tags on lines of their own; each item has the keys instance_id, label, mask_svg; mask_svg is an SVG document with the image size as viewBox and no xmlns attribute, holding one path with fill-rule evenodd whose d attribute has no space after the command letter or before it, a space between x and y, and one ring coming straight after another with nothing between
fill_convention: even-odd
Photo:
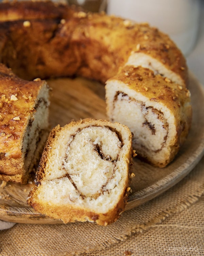
<instances>
[{"instance_id":1,"label":"blurred white vessel in the background behind the bread","mask_svg":"<svg viewBox=\"0 0 204 256\"><path fill-rule=\"evenodd\" d=\"M187 56L197 39L200 0L108 0L107 13L148 22L169 34Z\"/></svg>"}]
</instances>

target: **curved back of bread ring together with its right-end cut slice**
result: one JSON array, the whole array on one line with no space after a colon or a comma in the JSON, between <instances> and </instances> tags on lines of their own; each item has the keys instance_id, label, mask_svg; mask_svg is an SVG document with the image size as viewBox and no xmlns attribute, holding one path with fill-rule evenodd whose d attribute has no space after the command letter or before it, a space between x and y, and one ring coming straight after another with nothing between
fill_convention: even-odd
<instances>
[{"instance_id":1,"label":"curved back of bread ring together with its right-end cut slice","mask_svg":"<svg viewBox=\"0 0 204 256\"><path fill-rule=\"evenodd\" d=\"M0 19L1 63L27 80L81 75L106 83L107 115L131 128L137 154L158 167L172 161L192 111L186 61L168 35L50 1L1 3Z\"/></svg>"}]
</instances>

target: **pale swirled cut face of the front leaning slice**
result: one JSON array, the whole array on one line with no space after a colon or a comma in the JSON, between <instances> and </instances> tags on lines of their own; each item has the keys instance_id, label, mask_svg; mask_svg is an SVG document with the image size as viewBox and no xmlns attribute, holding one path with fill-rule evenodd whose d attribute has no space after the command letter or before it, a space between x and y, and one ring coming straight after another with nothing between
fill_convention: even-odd
<instances>
[{"instance_id":1,"label":"pale swirled cut face of the front leaning slice","mask_svg":"<svg viewBox=\"0 0 204 256\"><path fill-rule=\"evenodd\" d=\"M39 200L100 213L116 207L129 179L129 136L108 126L62 128L49 152Z\"/></svg>"}]
</instances>

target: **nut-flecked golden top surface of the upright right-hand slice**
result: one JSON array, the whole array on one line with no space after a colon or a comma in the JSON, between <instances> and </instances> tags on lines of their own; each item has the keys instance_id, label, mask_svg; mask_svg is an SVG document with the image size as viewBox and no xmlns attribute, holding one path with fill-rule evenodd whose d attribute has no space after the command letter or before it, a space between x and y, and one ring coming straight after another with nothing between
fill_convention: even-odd
<instances>
[{"instance_id":1,"label":"nut-flecked golden top surface of the upright right-hand slice","mask_svg":"<svg viewBox=\"0 0 204 256\"><path fill-rule=\"evenodd\" d=\"M119 80L150 101L163 103L174 115L184 104L190 104L190 92L186 87L146 68L125 66L110 80Z\"/></svg>"}]
</instances>

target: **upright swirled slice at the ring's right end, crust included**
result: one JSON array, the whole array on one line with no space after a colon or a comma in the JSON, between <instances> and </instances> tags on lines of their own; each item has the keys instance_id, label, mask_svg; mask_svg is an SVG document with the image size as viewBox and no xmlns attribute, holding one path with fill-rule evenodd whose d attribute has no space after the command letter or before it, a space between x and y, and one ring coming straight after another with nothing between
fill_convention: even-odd
<instances>
[{"instance_id":1,"label":"upright swirled slice at the ring's right end, crust included","mask_svg":"<svg viewBox=\"0 0 204 256\"><path fill-rule=\"evenodd\" d=\"M134 133L138 156L153 166L167 166L190 129L188 89L148 68L128 65L105 88L107 115Z\"/></svg>"}]
</instances>

